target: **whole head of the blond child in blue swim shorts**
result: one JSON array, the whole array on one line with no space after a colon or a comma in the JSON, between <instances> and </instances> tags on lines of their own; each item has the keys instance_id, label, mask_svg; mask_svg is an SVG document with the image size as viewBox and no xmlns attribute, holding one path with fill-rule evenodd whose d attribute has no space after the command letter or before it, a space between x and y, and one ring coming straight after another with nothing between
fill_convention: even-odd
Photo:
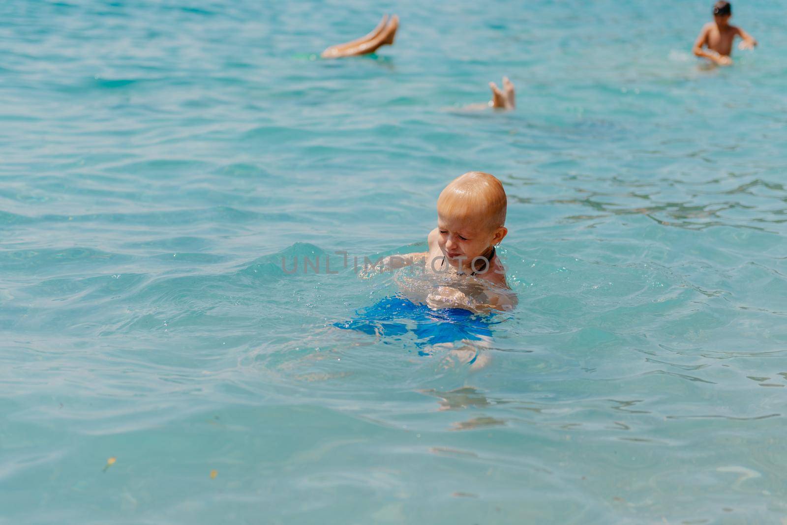
<instances>
[{"instance_id":1,"label":"whole head of the blond child in blue swim shorts","mask_svg":"<svg viewBox=\"0 0 787 525\"><path fill-rule=\"evenodd\" d=\"M438 244L453 266L469 266L503 240L506 204L503 185L488 173L471 171L445 186L438 198Z\"/></svg>"}]
</instances>

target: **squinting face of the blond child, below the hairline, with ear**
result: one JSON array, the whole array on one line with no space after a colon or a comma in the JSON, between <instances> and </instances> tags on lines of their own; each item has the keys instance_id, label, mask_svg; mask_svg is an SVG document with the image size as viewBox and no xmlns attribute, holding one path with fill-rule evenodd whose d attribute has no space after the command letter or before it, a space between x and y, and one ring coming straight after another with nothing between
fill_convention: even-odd
<instances>
[{"instance_id":1,"label":"squinting face of the blond child, below the hairline, with ear","mask_svg":"<svg viewBox=\"0 0 787 525\"><path fill-rule=\"evenodd\" d=\"M505 237L504 227L490 229L486 221L456 219L438 211L438 245L451 266L469 266Z\"/></svg>"}]
</instances>

